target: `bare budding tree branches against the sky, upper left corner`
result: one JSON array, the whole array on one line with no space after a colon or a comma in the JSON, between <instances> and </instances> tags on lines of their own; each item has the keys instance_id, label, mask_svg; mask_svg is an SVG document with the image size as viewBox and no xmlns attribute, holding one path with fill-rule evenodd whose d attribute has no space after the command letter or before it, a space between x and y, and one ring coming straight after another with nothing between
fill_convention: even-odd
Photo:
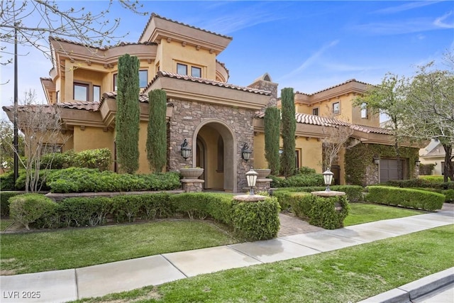
<instances>
[{"instance_id":1,"label":"bare budding tree branches against the sky, upper left corner","mask_svg":"<svg viewBox=\"0 0 454 303\"><path fill-rule=\"evenodd\" d=\"M11 55L6 52L6 47L15 43L14 32L17 31L18 45L32 46L48 58L51 54L48 43L49 35L77 40L82 45L87 45L87 50L97 56L98 54L94 53L89 46L118 43L119 39L123 38L123 36L114 34L120 24L120 18L109 16L115 2L110 0L106 4L106 9L99 13L92 13L83 6L77 8L74 5L62 9L62 6L65 5L62 5L61 2L57 3L57 1L1 1L0 40L2 45L0 53ZM147 14L138 11L142 7L138 1L120 0L118 4L135 13ZM70 50L67 51L70 55ZM12 59L6 59L2 64L11 62Z\"/></svg>"}]
</instances>

